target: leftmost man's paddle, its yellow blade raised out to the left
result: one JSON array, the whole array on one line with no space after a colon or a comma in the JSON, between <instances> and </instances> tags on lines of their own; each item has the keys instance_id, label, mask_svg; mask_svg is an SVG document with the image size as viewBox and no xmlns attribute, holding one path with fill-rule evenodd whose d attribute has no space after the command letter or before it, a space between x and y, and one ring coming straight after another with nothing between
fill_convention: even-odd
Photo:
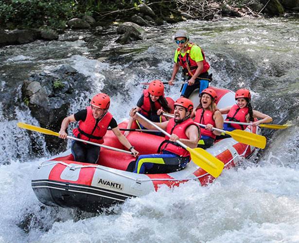
<instances>
[{"instance_id":1,"label":"leftmost man's paddle, its yellow blade raised out to the left","mask_svg":"<svg viewBox=\"0 0 299 243\"><path fill-rule=\"evenodd\" d=\"M53 136L56 136L56 137L59 136L59 133L53 132L53 131L51 131L49 129L46 129L46 128L41 128L41 127L38 127L38 126L29 125L29 124L26 124L26 123L23 123L23 122L18 122L17 125L20 128L35 131L35 132L38 132L38 133L53 135ZM72 139L72 140L76 140L76 141L80 141L80 142L85 142L85 143L89 143L89 144L99 146L99 147L103 147L103 148L106 148L106 149L111 149L111 150L114 150L114 151L122 152L122 153L129 154L129 155L133 155L130 151L126 151L126 150L123 150L123 149L117 149L117 148L110 147L110 146L107 146L107 145L104 145L104 144L89 142L89 141L86 141L86 140L83 140L83 139L77 139L77 138L70 137L70 136L67 136L67 139Z\"/></svg>"}]
</instances>

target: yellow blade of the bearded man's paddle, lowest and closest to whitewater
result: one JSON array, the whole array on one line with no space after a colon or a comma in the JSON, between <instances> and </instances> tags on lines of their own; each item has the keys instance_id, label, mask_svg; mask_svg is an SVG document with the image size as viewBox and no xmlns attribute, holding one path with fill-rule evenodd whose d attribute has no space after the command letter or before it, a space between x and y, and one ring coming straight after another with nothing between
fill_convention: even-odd
<instances>
[{"instance_id":1,"label":"yellow blade of the bearded man's paddle, lowest and closest to whitewater","mask_svg":"<svg viewBox=\"0 0 299 243\"><path fill-rule=\"evenodd\" d=\"M221 174L224 163L218 158L212 156L206 150L202 148L186 148L191 155L192 161L200 168L214 176L215 178Z\"/></svg>"}]
</instances>

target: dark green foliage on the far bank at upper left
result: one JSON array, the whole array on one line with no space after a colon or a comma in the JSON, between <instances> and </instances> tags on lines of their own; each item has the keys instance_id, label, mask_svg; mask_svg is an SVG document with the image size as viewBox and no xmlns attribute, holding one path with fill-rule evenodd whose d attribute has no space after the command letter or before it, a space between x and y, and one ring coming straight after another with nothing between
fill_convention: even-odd
<instances>
[{"instance_id":1,"label":"dark green foliage on the far bank at upper left","mask_svg":"<svg viewBox=\"0 0 299 243\"><path fill-rule=\"evenodd\" d=\"M63 28L66 21L84 15L128 9L145 0L0 0L0 25L9 28ZM129 14L124 12L124 14ZM129 14L130 15L130 14ZM120 16L121 17L121 16Z\"/></svg>"}]
</instances>

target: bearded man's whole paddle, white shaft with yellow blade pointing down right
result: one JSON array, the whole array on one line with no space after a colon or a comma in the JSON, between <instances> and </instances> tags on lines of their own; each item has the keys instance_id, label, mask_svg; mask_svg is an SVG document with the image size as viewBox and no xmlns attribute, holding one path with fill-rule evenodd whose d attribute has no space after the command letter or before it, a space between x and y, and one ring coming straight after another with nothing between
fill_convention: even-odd
<instances>
[{"instance_id":1,"label":"bearded man's whole paddle, white shaft with yellow blade pointing down right","mask_svg":"<svg viewBox=\"0 0 299 243\"><path fill-rule=\"evenodd\" d=\"M154 122L143 117L140 113L136 112L136 115L138 117L140 117L141 119L143 119L144 121L151 124L152 126L154 126L155 128L157 128L160 132L162 132L166 136L171 137L170 134L165 132L162 128L160 128ZM218 158L212 156L210 153L203 150L202 148L194 148L194 149L189 148L188 146L186 146L184 143L182 143L179 140L176 140L176 143L178 143L180 146L182 146L183 148L188 150L190 152L193 163L200 166L203 170L205 170L206 172L208 172L215 178L218 177L219 174L221 174L223 167L224 167L224 163L222 161L220 161Z\"/></svg>"}]
</instances>

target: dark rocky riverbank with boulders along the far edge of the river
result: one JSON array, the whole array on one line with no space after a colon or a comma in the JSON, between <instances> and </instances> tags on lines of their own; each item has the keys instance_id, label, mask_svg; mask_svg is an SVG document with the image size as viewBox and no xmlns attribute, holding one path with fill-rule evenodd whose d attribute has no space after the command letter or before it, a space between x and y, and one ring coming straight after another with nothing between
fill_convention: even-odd
<instances>
[{"instance_id":1,"label":"dark rocky riverbank with boulders along the far edge of the river","mask_svg":"<svg viewBox=\"0 0 299 243\"><path fill-rule=\"evenodd\" d=\"M0 46L25 44L37 39L43 40L77 40L78 38L59 38L68 30L88 29L94 34L101 34L102 27L122 22L132 22L130 27L119 28L118 43L126 44L132 40L142 39L140 26L162 25L187 19L215 20L228 17L261 17L279 16L287 12L299 13L299 0L233 0L223 3L218 0L162 0L148 1L128 9L118 9L65 19L63 29L49 29L41 26L38 29L7 30L14 26L11 22L0 22ZM126 25L127 26L127 25ZM2 28L2 29L1 29ZM137 31L136 31L137 30Z\"/></svg>"}]
</instances>

